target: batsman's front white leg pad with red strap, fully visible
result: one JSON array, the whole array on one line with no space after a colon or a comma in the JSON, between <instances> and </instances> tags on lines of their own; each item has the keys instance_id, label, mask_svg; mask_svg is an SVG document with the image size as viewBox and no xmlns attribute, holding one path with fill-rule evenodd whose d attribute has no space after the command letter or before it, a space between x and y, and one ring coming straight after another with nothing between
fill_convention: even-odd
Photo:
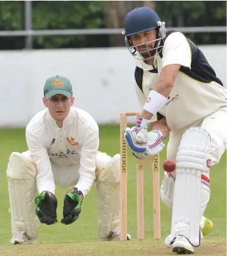
<instances>
[{"instance_id":1,"label":"batsman's front white leg pad with red strap, fully visible","mask_svg":"<svg viewBox=\"0 0 227 256\"><path fill-rule=\"evenodd\" d=\"M201 217L210 199L211 152L209 133L192 127L182 136L176 158L171 234L185 236L193 246L200 245Z\"/></svg>"}]
</instances>

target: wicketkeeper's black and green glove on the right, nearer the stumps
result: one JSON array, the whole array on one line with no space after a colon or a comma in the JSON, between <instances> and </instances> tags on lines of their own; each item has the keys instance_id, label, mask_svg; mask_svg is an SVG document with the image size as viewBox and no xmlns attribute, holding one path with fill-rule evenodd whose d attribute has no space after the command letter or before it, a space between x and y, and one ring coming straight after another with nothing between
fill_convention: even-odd
<instances>
[{"instance_id":1,"label":"wicketkeeper's black and green glove on the right, nearer the stumps","mask_svg":"<svg viewBox=\"0 0 227 256\"><path fill-rule=\"evenodd\" d=\"M64 197L63 217L61 223L71 224L79 218L81 213L81 204L84 195L77 188L69 190Z\"/></svg>"}]
</instances>

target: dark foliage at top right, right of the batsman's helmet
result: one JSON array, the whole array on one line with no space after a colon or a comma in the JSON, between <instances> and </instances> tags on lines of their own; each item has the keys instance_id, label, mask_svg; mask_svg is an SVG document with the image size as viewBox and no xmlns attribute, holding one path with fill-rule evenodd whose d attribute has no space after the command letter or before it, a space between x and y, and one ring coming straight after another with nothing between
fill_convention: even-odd
<instances>
[{"instance_id":1,"label":"dark foliage at top right, right of the batsman's helmet","mask_svg":"<svg viewBox=\"0 0 227 256\"><path fill-rule=\"evenodd\" d=\"M226 26L226 1L157 1L166 27ZM190 33L195 43L226 43L226 33Z\"/></svg>"}]
</instances>

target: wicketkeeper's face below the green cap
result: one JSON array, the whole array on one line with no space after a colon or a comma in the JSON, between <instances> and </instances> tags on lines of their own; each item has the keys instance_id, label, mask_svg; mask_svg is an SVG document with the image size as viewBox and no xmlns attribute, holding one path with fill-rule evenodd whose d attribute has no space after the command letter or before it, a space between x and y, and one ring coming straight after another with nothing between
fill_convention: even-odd
<instances>
[{"instance_id":1,"label":"wicketkeeper's face below the green cap","mask_svg":"<svg viewBox=\"0 0 227 256\"><path fill-rule=\"evenodd\" d=\"M55 94L50 99L43 97L43 104L55 121L63 121L68 116L73 103L74 97L68 98L63 94Z\"/></svg>"}]
</instances>

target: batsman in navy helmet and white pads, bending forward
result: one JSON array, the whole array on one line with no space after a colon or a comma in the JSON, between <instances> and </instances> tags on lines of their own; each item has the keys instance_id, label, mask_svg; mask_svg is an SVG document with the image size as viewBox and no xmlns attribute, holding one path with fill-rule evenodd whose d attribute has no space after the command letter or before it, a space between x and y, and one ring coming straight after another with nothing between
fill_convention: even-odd
<instances>
[{"instance_id":1,"label":"batsman in navy helmet and white pads, bending forward","mask_svg":"<svg viewBox=\"0 0 227 256\"><path fill-rule=\"evenodd\" d=\"M126 140L137 158L160 153L169 137L167 158L177 167L165 172L161 199L172 214L165 245L178 254L194 253L213 224L203 217L210 199L210 168L226 151L227 91L203 52L147 7L126 15L124 39L137 59L135 90L142 107ZM147 132L148 127L151 132Z\"/></svg>"}]
</instances>

